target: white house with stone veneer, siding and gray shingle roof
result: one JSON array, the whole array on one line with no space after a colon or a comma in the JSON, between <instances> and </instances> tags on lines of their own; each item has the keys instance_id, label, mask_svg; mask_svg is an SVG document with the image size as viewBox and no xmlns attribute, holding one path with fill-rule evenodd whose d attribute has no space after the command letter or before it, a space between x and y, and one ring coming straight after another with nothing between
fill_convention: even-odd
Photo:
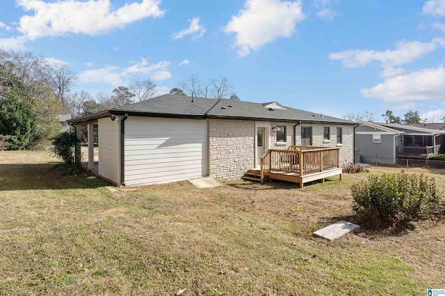
<instances>
[{"instance_id":1,"label":"white house with stone veneer, siding and gray shingle roof","mask_svg":"<svg viewBox=\"0 0 445 296\"><path fill-rule=\"evenodd\" d=\"M203 176L238 178L252 168L260 168L262 157L272 150L286 150L301 157L307 166L287 162L288 173L292 173L291 166L300 169L295 175L309 174L316 166L323 171L323 177L329 175L329 168L334 169L332 166L341 174L340 165L353 162L355 123L277 102L261 104L166 94L69 122L76 125L78 134L81 125L88 125L88 138L92 137L93 126L98 125L97 173L118 185ZM319 160L310 171L306 160L310 151L306 150L311 149L300 146L330 150L323 152L327 155L324 158L321 150L313 152ZM92 155L92 146L88 149ZM282 164L280 153L275 153L275 157ZM271 162L274 158L270 155L268 159ZM95 167L92 157L88 167ZM268 170L273 167L268 166Z\"/></svg>"}]
</instances>

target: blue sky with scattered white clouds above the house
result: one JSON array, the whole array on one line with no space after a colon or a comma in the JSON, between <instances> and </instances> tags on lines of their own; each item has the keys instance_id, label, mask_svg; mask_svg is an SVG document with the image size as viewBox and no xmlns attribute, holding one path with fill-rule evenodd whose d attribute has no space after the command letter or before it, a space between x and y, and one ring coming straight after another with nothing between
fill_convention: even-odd
<instances>
[{"instance_id":1,"label":"blue sky with scattered white clouds above the house","mask_svg":"<svg viewBox=\"0 0 445 296\"><path fill-rule=\"evenodd\" d=\"M341 117L445 116L445 0L9 0L0 47L66 63L72 91L227 77L243 101Z\"/></svg>"}]
</instances>

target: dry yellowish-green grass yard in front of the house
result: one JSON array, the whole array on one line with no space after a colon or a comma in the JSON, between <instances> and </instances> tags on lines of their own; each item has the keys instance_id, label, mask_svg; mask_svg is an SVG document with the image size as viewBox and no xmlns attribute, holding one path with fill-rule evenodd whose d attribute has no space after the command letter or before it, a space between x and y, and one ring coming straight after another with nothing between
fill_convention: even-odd
<instances>
[{"instance_id":1,"label":"dry yellowish-green grass yard in front of the house","mask_svg":"<svg viewBox=\"0 0 445 296\"><path fill-rule=\"evenodd\" d=\"M401 234L312 232L351 217L366 173L295 184L119 189L0 151L1 295L426 295L445 288L445 223ZM372 173L397 172L371 168ZM436 177L445 171L410 169Z\"/></svg>"}]
</instances>

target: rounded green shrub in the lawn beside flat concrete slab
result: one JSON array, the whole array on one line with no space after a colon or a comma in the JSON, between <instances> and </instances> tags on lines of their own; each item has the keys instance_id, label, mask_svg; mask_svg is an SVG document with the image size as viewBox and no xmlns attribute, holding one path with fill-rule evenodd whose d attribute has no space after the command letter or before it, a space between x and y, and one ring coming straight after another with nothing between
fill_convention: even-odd
<instances>
[{"instance_id":1,"label":"rounded green shrub in the lawn beside flat concrete slab","mask_svg":"<svg viewBox=\"0 0 445 296\"><path fill-rule=\"evenodd\" d=\"M375 225L399 227L427 218L441 201L434 178L404 171L371 175L352 191L353 210Z\"/></svg>"}]
</instances>

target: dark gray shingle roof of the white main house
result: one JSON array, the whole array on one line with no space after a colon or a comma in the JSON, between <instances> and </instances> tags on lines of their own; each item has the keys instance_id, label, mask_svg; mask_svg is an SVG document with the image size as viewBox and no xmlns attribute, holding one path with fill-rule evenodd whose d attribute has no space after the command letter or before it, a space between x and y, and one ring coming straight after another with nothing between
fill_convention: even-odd
<instances>
[{"instance_id":1,"label":"dark gray shingle roof of the white main house","mask_svg":"<svg viewBox=\"0 0 445 296\"><path fill-rule=\"evenodd\" d=\"M274 102L270 102L274 103ZM266 103L266 105L270 104ZM319 113L307 112L291 107L286 110L264 107L265 103L235 101L226 98L192 98L175 94L165 94L140 103L124 105L108 110L111 114L160 117L252 119L267 121L305 121L314 123L341 123L355 125L353 121L338 119ZM101 114L104 116L104 114ZM88 117L91 120L92 116ZM79 122L74 119L72 122Z\"/></svg>"}]
</instances>

